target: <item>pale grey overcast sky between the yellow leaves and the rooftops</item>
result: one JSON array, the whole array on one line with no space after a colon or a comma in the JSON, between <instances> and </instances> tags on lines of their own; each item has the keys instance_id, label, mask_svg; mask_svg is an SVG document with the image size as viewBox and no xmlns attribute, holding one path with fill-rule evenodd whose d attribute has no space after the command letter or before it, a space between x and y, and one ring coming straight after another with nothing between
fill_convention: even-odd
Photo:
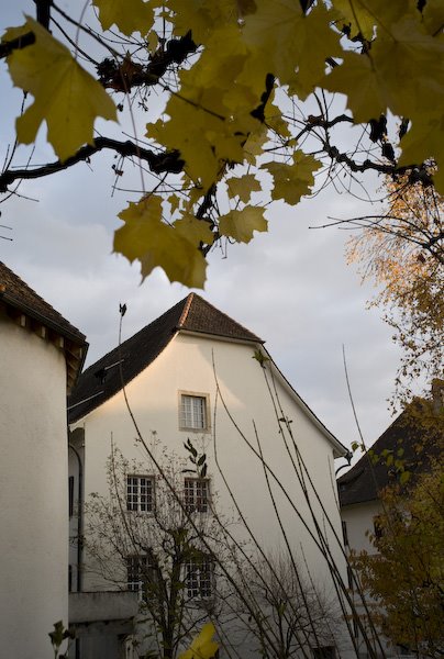
<instances>
[{"instance_id":1,"label":"pale grey overcast sky between the yellow leaves and the rooftops","mask_svg":"<svg viewBox=\"0 0 444 659\"><path fill-rule=\"evenodd\" d=\"M31 0L2 7L2 26L22 23L21 9L34 14ZM21 102L4 64L0 98L3 158ZM23 164L27 152L22 153ZM38 143L33 161L48 158L51 149ZM0 205L0 223L12 227L0 227L0 235L13 238L0 239L0 259L87 335L87 364L116 345L120 302L127 305L129 337L189 292L170 284L159 269L140 286L138 267L111 254L112 233L121 225L116 213L127 201L124 192L111 197L111 165L112 158L99 156L90 165L26 182L20 188L23 198ZM131 182L127 167L126 176ZM275 203L268 234L256 234L247 246L231 246L226 258L214 250L206 290L198 291L266 340L298 393L346 445L357 433L342 345L368 444L391 422L386 399L393 389L398 353L379 312L366 310L371 288L362 287L355 269L345 265L348 234L309 226L324 224L328 215L351 217L360 211L356 199L332 188L296 209Z\"/></svg>"}]
</instances>

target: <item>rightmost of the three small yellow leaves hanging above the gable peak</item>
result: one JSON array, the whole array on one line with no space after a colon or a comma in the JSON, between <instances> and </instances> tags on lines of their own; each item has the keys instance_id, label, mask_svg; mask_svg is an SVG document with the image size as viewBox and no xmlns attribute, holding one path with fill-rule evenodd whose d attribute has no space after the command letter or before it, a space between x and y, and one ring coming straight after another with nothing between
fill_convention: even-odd
<instances>
[{"instance_id":1,"label":"rightmost of the three small yellow leaves hanging above the gable peak","mask_svg":"<svg viewBox=\"0 0 444 659\"><path fill-rule=\"evenodd\" d=\"M269 171L274 180L271 199L284 199L295 205L303 194L309 194L314 185L314 171L321 167L313 156L297 152L292 164L266 163L263 169Z\"/></svg>"}]
</instances>

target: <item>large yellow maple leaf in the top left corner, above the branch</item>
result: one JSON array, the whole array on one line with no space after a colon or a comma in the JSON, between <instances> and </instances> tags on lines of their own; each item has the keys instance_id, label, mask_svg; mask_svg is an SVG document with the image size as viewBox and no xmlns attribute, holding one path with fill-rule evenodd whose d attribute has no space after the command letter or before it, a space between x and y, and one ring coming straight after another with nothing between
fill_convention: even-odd
<instances>
[{"instance_id":1,"label":"large yellow maple leaf in the top left corner, above the branch","mask_svg":"<svg viewBox=\"0 0 444 659\"><path fill-rule=\"evenodd\" d=\"M84 144L92 144L98 116L116 120L115 105L68 48L30 16L19 29L9 29L4 40L26 32L34 33L35 43L13 51L7 59L14 85L34 97L16 120L16 136L20 143L31 144L46 121L47 138L59 159L66 160Z\"/></svg>"}]
</instances>

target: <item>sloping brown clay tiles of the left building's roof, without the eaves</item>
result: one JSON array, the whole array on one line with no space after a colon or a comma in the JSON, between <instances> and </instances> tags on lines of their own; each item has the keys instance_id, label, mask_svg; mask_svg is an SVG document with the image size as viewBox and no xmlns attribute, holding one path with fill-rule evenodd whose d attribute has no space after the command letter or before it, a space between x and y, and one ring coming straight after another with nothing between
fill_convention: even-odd
<instances>
[{"instance_id":1,"label":"sloping brown clay tiles of the left building's roof, without the eaves","mask_svg":"<svg viewBox=\"0 0 444 659\"><path fill-rule=\"evenodd\" d=\"M62 314L51 304L45 302L32 288L27 286L20 277L10 270L0 261L0 300L3 300L9 306L26 314L54 330L62 336L84 345L85 334L81 334L74 327Z\"/></svg>"}]
</instances>

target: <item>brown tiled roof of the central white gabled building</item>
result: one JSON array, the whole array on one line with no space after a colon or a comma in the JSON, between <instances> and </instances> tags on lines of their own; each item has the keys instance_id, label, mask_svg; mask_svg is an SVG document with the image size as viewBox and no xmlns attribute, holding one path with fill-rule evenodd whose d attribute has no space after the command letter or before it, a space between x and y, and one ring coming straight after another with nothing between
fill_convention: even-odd
<instances>
[{"instance_id":1,"label":"brown tiled roof of the central white gabled building","mask_svg":"<svg viewBox=\"0 0 444 659\"><path fill-rule=\"evenodd\" d=\"M190 293L80 376L68 402L69 422L78 421L118 393L156 359L177 332L264 343L200 295Z\"/></svg>"}]
</instances>

